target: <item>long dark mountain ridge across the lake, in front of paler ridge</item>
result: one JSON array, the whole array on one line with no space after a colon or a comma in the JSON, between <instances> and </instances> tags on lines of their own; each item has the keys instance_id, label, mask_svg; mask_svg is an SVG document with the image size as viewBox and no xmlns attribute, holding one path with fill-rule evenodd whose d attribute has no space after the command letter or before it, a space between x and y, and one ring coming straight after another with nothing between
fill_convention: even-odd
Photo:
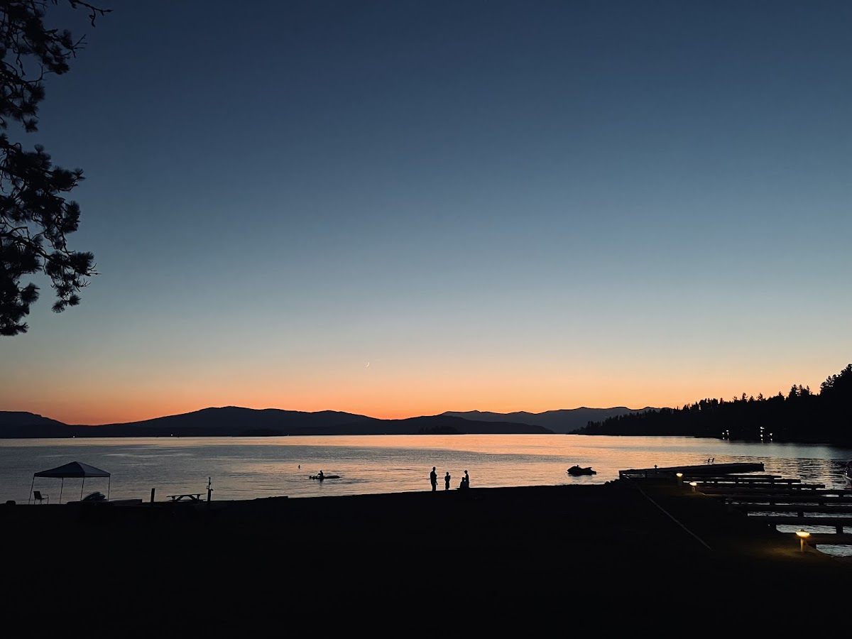
<instances>
[{"instance_id":1,"label":"long dark mountain ridge across the lake, in front of paler ridge","mask_svg":"<svg viewBox=\"0 0 852 639\"><path fill-rule=\"evenodd\" d=\"M493 413L487 413L493 415ZM501 419L469 419L450 414L377 419L349 412L256 410L226 406L141 422L99 426L57 422L32 412L0 411L0 438L42 437L233 437L275 435L456 435L546 434L551 429L534 423Z\"/></svg>"}]
</instances>

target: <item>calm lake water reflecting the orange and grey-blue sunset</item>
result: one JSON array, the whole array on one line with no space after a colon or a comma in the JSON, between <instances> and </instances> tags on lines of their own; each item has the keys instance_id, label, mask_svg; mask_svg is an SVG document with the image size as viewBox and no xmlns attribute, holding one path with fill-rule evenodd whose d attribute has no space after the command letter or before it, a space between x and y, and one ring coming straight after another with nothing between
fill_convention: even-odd
<instances>
[{"instance_id":1,"label":"calm lake water reflecting the orange and grey-blue sunset","mask_svg":"<svg viewBox=\"0 0 852 639\"><path fill-rule=\"evenodd\" d=\"M301 437L104 438L0 440L0 500L26 504L31 489L50 503L77 500L89 492L112 499L150 499L207 492L212 498L251 499L354 495L430 490L435 466L439 490L452 475L454 490L463 471L470 486L554 486L604 484L619 470L707 463L763 462L768 473L797 477L826 487L843 487L841 472L852 450L812 444L743 443L692 437L612 437L602 435L360 435ZM109 481L33 478L41 470L82 462L111 473ZM596 475L572 477L574 464ZM323 482L320 471L340 475ZM61 490L61 495L60 495ZM793 527L779 527L794 530ZM830 527L811 532L833 533ZM820 546L830 555L849 556L847 546Z\"/></svg>"}]
</instances>

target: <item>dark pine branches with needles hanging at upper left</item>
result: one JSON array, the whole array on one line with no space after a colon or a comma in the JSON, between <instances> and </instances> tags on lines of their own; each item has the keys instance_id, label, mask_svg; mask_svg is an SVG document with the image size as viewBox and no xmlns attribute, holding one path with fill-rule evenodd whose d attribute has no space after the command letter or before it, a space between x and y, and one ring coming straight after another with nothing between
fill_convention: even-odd
<instances>
[{"instance_id":1,"label":"dark pine branches with needles hanging at upper left","mask_svg":"<svg viewBox=\"0 0 852 639\"><path fill-rule=\"evenodd\" d=\"M41 145L27 150L9 139L10 123L24 132L37 130L38 104L44 99L44 78L69 70L69 61L84 39L49 28L43 18L59 0L0 1L0 336L27 331L23 320L38 298L38 287L21 278L42 272L55 290L55 313L80 302L78 291L95 275L95 256L71 250L66 237L77 230L80 207L66 199L83 180L80 169L56 166ZM95 26L101 9L83 7Z\"/></svg>"}]
</instances>

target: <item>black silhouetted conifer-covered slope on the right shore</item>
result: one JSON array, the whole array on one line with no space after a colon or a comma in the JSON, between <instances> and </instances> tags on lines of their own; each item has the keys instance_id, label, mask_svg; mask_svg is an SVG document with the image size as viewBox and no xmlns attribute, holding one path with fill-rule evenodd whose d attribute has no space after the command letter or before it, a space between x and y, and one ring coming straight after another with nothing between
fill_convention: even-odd
<instances>
[{"instance_id":1,"label":"black silhouetted conifer-covered slope on the right shore","mask_svg":"<svg viewBox=\"0 0 852 639\"><path fill-rule=\"evenodd\" d=\"M706 399L589 422L579 435L686 435L731 440L823 442L852 445L852 364L820 384L785 395Z\"/></svg>"}]
</instances>

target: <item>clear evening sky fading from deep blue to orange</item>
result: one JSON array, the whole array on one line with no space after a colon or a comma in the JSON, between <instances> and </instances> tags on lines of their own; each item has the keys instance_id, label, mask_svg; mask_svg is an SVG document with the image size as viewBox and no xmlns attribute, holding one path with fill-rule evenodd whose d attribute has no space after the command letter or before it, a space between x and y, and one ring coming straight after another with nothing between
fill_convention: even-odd
<instances>
[{"instance_id":1,"label":"clear evening sky fading from deep blue to orange","mask_svg":"<svg viewBox=\"0 0 852 639\"><path fill-rule=\"evenodd\" d=\"M83 169L99 274L61 314L32 279L0 410L640 409L852 362L852 3L104 6L49 10L87 45L11 132Z\"/></svg>"}]
</instances>

